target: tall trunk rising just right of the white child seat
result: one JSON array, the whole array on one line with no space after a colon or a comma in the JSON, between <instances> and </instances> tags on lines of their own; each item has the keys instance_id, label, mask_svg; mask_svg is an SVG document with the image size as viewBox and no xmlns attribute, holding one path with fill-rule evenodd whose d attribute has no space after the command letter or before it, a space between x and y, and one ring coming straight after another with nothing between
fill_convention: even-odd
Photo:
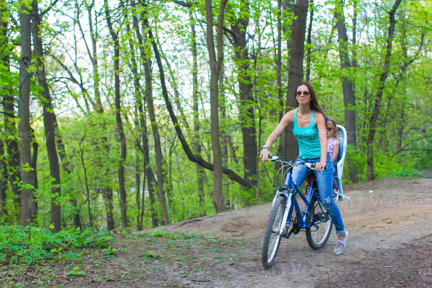
<instances>
[{"instance_id":1,"label":"tall trunk rising just right of the white child seat","mask_svg":"<svg viewBox=\"0 0 432 288\"><path fill-rule=\"evenodd\" d=\"M345 16L343 14L343 0L336 5L337 35L339 36L340 70L349 69L348 37L346 36ZM343 102L345 108L345 129L348 144L357 144L356 137L356 103L354 101L353 83L347 77L342 81Z\"/></svg>"}]
</instances>

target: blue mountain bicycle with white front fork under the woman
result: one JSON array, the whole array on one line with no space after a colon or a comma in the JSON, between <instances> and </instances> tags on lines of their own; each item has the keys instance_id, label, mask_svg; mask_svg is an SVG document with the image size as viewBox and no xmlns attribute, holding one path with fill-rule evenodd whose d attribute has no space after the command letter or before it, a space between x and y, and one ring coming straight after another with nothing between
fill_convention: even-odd
<instances>
[{"instance_id":1,"label":"blue mountain bicycle with white front fork under the woman","mask_svg":"<svg viewBox=\"0 0 432 288\"><path fill-rule=\"evenodd\" d=\"M293 233L298 234L300 231L306 231L306 239L309 246L318 250L327 243L333 226L333 222L319 198L318 184L313 172L315 165L313 163L294 164L291 161L286 162L280 156L271 154L269 155L269 160L280 162L281 168L276 173L276 181L280 175L280 181L285 185L277 187L264 235L262 263L265 269L269 269L273 265L282 237L289 238ZM297 184L292 181L292 168L294 166L308 168L307 185L304 194L300 191ZM285 182L283 179L286 179ZM299 194L306 205L303 212L301 212L299 203L295 197L297 194ZM284 234L283 227L285 226L291 206L294 206L295 217L292 219L292 228L288 234Z\"/></svg>"}]
</instances>

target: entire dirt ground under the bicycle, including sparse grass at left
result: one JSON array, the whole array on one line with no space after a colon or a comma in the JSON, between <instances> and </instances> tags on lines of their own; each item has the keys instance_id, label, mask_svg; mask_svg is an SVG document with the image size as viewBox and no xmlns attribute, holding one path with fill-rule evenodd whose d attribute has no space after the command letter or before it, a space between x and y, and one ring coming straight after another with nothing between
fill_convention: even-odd
<instances>
[{"instance_id":1,"label":"entire dirt ground under the bicycle, including sparse grass at left","mask_svg":"<svg viewBox=\"0 0 432 288\"><path fill-rule=\"evenodd\" d=\"M40 273L51 269L55 277L46 285L54 287L432 287L432 179L383 179L344 189L352 200L338 203L349 231L341 255L333 253L334 232L321 250L312 250L300 232L282 239L273 267L265 270L269 203L159 228L186 234L118 234L114 256L88 253L55 270L47 264ZM67 275L76 266L84 276Z\"/></svg>"}]
</instances>

